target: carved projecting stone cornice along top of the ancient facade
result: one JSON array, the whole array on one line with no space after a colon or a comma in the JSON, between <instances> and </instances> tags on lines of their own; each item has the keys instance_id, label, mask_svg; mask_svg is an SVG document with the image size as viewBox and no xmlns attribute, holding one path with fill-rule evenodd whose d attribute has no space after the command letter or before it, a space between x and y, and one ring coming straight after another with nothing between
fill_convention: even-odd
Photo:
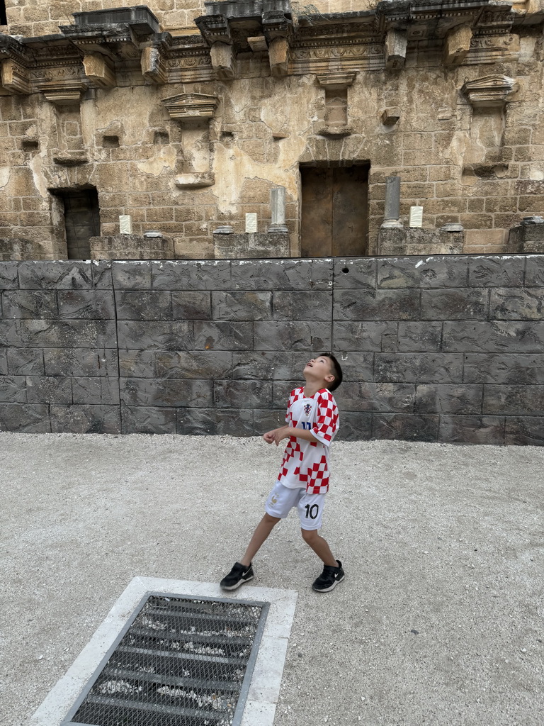
<instances>
[{"instance_id":1,"label":"carved projecting stone cornice along top of the ancient facade","mask_svg":"<svg viewBox=\"0 0 544 726\"><path fill-rule=\"evenodd\" d=\"M516 28L538 32L532 15L493 0L388 0L374 10L305 15L296 26L288 0L225 0L205 7L207 15L195 20L191 36L162 31L141 6L75 13L76 23L62 25L53 36L0 34L0 64L9 61L0 94L47 90L51 96L70 83L74 89L108 88L127 66L131 73L140 67L141 83L228 81L239 73L237 54L252 52L248 38L255 37L263 42L253 42L253 51L266 52L265 41L271 74L284 76L323 75L330 62L341 73L398 73L408 56L411 65L421 58L427 68L439 65L440 57L446 66L511 61L519 57ZM542 22L544 14L537 15Z\"/></svg>"}]
</instances>

